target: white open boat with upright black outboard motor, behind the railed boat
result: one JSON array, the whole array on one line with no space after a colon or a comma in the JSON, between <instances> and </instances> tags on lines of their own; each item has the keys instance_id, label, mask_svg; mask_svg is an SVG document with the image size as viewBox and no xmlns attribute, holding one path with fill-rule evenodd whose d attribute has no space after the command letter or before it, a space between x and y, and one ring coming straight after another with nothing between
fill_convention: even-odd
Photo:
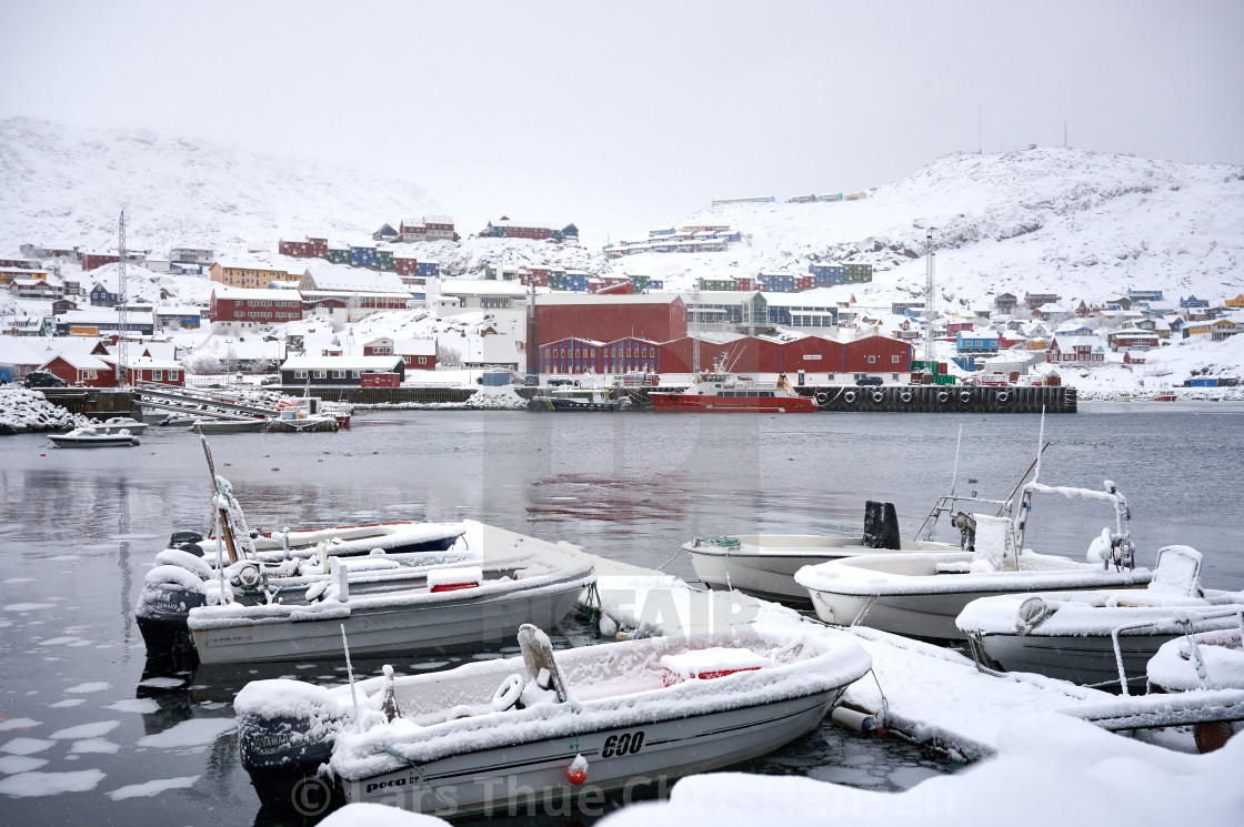
<instances>
[{"instance_id":1,"label":"white open boat with upright black outboard motor, behind the railed boat","mask_svg":"<svg viewBox=\"0 0 1244 827\"><path fill-rule=\"evenodd\" d=\"M722 535L695 537L683 543L695 576L712 589L731 588L789 606L811 607L807 589L795 582L795 572L831 560L878 552L960 551L945 542L903 540L889 502L865 506L863 535Z\"/></svg>"}]
</instances>

